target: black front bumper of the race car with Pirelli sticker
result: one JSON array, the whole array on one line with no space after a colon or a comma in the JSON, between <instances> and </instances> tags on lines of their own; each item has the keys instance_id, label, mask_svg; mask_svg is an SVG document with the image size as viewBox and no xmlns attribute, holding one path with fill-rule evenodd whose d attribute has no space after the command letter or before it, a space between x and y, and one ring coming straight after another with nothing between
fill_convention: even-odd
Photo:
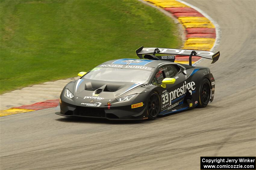
<instances>
[{"instance_id":1,"label":"black front bumper of the race car with Pirelli sticker","mask_svg":"<svg viewBox=\"0 0 256 170\"><path fill-rule=\"evenodd\" d=\"M131 105L117 107L88 107L76 106L64 101L60 103L60 112L57 115L66 117L89 117L89 118L105 118L109 120L144 120L148 118L147 106L131 109Z\"/></svg>"}]
</instances>

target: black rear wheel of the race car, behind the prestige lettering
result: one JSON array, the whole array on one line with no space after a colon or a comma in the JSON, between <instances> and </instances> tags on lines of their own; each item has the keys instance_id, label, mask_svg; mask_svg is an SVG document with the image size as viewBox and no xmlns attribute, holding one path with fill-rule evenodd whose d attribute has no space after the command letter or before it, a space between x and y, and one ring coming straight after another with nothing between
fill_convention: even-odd
<instances>
[{"instance_id":1,"label":"black rear wheel of the race car, behind the prestige lettering","mask_svg":"<svg viewBox=\"0 0 256 170\"><path fill-rule=\"evenodd\" d=\"M207 78L204 78L199 87L198 93L198 108L206 107L211 97L211 85Z\"/></svg>"}]
</instances>

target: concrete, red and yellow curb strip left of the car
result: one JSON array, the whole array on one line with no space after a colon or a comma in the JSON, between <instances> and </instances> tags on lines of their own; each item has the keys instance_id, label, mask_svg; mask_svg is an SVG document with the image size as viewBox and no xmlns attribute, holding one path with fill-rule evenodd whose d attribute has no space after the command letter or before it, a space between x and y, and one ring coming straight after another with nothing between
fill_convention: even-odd
<instances>
[{"instance_id":1,"label":"concrete, red and yellow curb strip left of the car","mask_svg":"<svg viewBox=\"0 0 256 170\"><path fill-rule=\"evenodd\" d=\"M0 117L57 107L64 86L77 78L45 82L2 94L0 96Z\"/></svg>"}]
</instances>

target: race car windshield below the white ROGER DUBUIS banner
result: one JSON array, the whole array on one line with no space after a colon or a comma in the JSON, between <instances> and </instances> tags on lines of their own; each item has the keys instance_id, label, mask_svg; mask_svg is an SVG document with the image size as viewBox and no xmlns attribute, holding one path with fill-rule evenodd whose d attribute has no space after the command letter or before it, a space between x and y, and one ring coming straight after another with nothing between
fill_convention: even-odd
<instances>
[{"instance_id":1,"label":"race car windshield below the white ROGER DUBUIS banner","mask_svg":"<svg viewBox=\"0 0 256 170\"><path fill-rule=\"evenodd\" d=\"M83 79L112 82L146 82L153 72L147 70L95 67Z\"/></svg>"}]
</instances>

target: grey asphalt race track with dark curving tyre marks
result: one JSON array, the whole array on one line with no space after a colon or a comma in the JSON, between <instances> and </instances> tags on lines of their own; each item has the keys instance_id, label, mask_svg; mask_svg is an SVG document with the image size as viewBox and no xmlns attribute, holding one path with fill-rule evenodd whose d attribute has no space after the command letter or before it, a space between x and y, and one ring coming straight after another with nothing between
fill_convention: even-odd
<instances>
[{"instance_id":1,"label":"grey asphalt race track with dark curving tyre marks","mask_svg":"<svg viewBox=\"0 0 256 170\"><path fill-rule=\"evenodd\" d=\"M220 25L214 102L155 121L1 118L1 169L200 169L200 156L255 156L255 1L188 1Z\"/></svg>"}]
</instances>

